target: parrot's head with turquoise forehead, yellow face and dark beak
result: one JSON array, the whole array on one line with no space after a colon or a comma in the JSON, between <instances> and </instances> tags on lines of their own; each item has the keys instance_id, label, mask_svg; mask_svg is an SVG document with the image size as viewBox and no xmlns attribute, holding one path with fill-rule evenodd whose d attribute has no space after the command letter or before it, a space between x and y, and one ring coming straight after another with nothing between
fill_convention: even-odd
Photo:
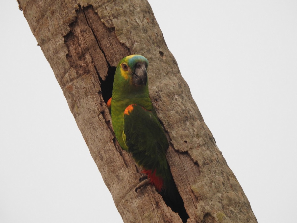
<instances>
[{"instance_id":1,"label":"parrot's head with turquoise forehead, yellow face and dark beak","mask_svg":"<svg viewBox=\"0 0 297 223\"><path fill-rule=\"evenodd\" d=\"M141 55L126 56L116 67L113 81L113 92L130 94L141 91L148 91L147 68L149 62Z\"/></svg>"}]
</instances>

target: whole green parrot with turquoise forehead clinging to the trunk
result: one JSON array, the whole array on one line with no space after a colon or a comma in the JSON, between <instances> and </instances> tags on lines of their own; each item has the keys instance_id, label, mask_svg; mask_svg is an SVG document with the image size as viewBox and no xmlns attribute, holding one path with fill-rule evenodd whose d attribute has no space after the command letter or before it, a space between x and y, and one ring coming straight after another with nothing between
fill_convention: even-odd
<instances>
[{"instance_id":1,"label":"whole green parrot with turquoise forehead clinging to the trunk","mask_svg":"<svg viewBox=\"0 0 297 223\"><path fill-rule=\"evenodd\" d=\"M116 67L112 97L107 103L113 130L121 147L143 168L145 175L135 191L151 183L185 222L189 217L165 156L169 143L149 97L148 65L144 56L131 55Z\"/></svg>"}]
</instances>

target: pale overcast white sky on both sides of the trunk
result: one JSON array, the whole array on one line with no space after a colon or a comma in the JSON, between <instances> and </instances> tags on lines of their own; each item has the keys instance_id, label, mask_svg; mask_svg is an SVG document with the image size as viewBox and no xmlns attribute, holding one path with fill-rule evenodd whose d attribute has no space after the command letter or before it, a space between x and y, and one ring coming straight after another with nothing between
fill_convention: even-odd
<instances>
[{"instance_id":1,"label":"pale overcast white sky on both sides of the trunk","mask_svg":"<svg viewBox=\"0 0 297 223\"><path fill-rule=\"evenodd\" d=\"M258 222L296 222L297 1L149 2ZM121 222L23 13L0 10L0 222Z\"/></svg>"}]
</instances>

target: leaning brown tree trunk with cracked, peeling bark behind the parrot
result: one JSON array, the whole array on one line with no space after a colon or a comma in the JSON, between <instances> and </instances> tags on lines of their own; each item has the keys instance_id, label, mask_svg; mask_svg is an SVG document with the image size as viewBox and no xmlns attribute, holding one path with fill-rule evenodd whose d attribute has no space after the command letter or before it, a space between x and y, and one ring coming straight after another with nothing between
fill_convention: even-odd
<instances>
[{"instance_id":1,"label":"leaning brown tree trunk with cracked, peeling bark behind the parrot","mask_svg":"<svg viewBox=\"0 0 297 223\"><path fill-rule=\"evenodd\" d=\"M124 222L181 222L116 141L105 102L115 67L149 60L149 90L168 135L167 159L188 222L257 222L203 121L147 1L19 0ZM99 211L99 210L98 210Z\"/></svg>"}]
</instances>

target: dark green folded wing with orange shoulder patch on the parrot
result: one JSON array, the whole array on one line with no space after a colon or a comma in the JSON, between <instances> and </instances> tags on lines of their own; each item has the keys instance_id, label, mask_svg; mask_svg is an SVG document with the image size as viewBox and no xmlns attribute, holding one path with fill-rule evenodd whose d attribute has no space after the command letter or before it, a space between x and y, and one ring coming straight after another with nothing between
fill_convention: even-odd
<instances>
[{"instance_id":1,"label":"dark green folded wing with orange shoulder patch on the parrot","mask_svg":"<svg viewBox=\"0 0 297 223\"><path fill-rule=\"evenodd\" d=\"M169 144L154 113L137 104L129 105L124 112L123 140L135 162L161 177L166 185L171 177L165 156Z\"/></svg>"}]
</instances>

